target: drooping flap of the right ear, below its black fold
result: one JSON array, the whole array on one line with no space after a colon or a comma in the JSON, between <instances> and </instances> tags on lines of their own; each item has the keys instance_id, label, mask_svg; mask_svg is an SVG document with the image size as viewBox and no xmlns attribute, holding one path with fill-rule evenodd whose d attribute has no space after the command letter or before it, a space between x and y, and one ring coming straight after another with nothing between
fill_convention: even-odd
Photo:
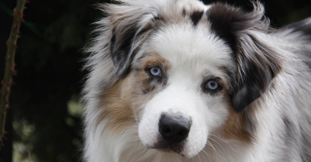
<instances>
[{"instance_id":1,"label":"drooping flap of the right ear, below its black fold","mask_svg":"<svg viewBox=\"0 0 311 162\"><path fill-rule=\"evenodd\" d=\"M241 111L261 96L273 77L281 70L278 53L252 35L244 35L236 51L237 83L232 93L232 104Z\"/></svg>"}]
</instances>

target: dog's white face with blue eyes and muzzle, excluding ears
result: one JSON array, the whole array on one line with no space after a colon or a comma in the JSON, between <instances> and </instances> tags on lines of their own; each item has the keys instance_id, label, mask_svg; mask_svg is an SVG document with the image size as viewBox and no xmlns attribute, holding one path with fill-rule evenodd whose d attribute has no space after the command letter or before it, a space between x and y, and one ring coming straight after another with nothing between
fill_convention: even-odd
<instances>
[{"instance_id":1,"label":"dog's white face with blue eyes and muzzle, excluding ears","mask_svg":"<svg viewBox=\"0 0 311 162\"><path fill-rule=\"evenodd\" d=\"M205 26L175 24L153 33L140 50L133 66L141 94L133 101L146 100L133 107L139 139L148 148L196 155L232 109L230 47Z\"/></svg>"}]
</instances>

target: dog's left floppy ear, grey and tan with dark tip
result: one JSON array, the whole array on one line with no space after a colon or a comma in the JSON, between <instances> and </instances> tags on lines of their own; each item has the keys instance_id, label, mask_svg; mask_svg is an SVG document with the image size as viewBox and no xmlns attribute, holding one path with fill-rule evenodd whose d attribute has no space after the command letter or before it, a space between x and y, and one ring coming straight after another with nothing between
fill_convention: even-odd
<instances>
[{"instance_id":1,"label":"dog's left floppy ear, grey and tan with dark tip","mask_svg":"<svg viewBox=\"0 0 311 162\"><path fill-rule=\"evenodd\" d=\"M123 76L130 69L142 37L151 28L152 16L140 7L127 4L110 5L107 11L110 12L108 19L111 25L110 56L116 75Z\"/></svg>"}]
</instances>

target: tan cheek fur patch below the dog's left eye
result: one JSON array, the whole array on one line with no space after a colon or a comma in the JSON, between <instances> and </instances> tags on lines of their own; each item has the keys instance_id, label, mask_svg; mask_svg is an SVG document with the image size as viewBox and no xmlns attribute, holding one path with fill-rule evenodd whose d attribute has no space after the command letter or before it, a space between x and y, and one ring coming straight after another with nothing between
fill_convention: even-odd
<instances>
[{"instance_id":1,"label":"tan cheek fur patch below the dog's left eye","mask_svg":"<svg viewBox=\"0 0 311 162\"><path fill-rule=\"evenodd\" d=\"M131 71L124 78L120 79L111 87L102 99L105 107L104 119L109 115L115 121L125 121L133 117L139 117L138 114L142 105L151 98L152 94L143 95L143 90L150 89L147 84L148 76L144 72Z\"/></svg>"}]
</instances>

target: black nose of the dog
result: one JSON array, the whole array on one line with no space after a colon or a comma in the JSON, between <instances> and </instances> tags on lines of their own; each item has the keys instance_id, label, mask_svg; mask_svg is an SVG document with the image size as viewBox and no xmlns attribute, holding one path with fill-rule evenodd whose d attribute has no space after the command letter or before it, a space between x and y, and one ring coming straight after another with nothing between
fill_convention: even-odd
<instances>
[{"instance_id":1,"label":"black nose of the dog","mask_svg":"<svg viewBox=\"0 0 311 162\"><path fill-rule=\"evenodd\" d=\"M184 117L162 114L159 121L159 132L170 143L180 142L188 137L192 121Z\"/></svg>"}]
</instances>

